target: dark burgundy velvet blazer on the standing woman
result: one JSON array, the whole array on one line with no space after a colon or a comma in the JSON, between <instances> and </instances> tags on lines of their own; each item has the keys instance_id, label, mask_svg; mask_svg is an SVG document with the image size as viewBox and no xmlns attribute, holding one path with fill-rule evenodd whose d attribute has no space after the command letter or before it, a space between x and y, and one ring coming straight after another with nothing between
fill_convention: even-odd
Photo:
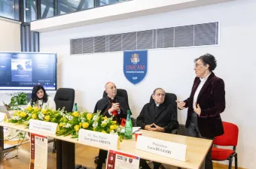
<instances>
[{"instance_id":1,"label":"dark burgundy velvet blazer on the standing woman","mask_svg":"<svg viewBox=\"0 0 256 169\"><path fill-rule=\"evenodd\" d=\"M184 102L187 110L186 127L190 123L191 115L194 112L193 104L194 94L200 84L200 78L196 77L190 97ZM201 114L197 116L197 123L200 134L203 137L216 137L224 134L224 128L220 113L224 112L226 107L224 81L216 77L215 74L209 75L206 83L203 85L197 97L197 104L201 107Z\"/></svg>"}]
</instances>

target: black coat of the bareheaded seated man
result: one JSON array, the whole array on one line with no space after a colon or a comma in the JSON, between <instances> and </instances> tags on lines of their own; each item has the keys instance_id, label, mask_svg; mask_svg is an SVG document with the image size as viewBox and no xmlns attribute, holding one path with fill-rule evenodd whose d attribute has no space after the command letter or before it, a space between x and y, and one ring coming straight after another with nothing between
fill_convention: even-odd
<instances>
[{"instance_id":1,"label":"black coat of the bareheaded seated man","mask_svg":"<svg viewBox=\"0 0 256 169\"><path fill-rule=\"evenodd\" d=\"M144 129L145 125L155 123L164 128L166 133L172 133L173 129L178 128L177 113L175 113L172 104L160 104L157 114L155 114L154 109L154 102L145 104L136 120L139 127Z\"/></svg>"}]
</instances>

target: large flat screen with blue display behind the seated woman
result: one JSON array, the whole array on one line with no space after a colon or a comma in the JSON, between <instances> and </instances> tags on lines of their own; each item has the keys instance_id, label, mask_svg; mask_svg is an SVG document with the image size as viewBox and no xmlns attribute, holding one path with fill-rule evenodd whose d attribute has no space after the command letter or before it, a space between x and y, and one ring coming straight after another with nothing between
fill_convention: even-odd
<instances>
[{"instance_id":1,"label":"large flat screen with blue display behind the seated woman","mask_svg":"<svg viewBox=\"0 0 256 169\"><path fill-rule=\"evenodd\" d=\"M0 90L56 90L56 53L0 53Z\"/></svg>"}]
</instances>

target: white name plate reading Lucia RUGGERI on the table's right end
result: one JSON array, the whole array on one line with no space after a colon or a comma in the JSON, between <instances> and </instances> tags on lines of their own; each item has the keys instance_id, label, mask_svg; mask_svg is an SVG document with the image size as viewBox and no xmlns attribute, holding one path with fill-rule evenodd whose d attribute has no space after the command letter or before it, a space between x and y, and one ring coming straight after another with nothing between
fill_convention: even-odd
<instances>
[{"instance_id":1,"label":"white name plate reading Lucia RUGGERI on the table's right end","mask_svg":"<svg viewBox=\"0 0 256 169\"><path fill-rule=\"evenodd\" d=\"M187 145L181 143L173 143L139 135L136 142L136 149L179 161L186 161Z\"/></svg>"}]
</instances>

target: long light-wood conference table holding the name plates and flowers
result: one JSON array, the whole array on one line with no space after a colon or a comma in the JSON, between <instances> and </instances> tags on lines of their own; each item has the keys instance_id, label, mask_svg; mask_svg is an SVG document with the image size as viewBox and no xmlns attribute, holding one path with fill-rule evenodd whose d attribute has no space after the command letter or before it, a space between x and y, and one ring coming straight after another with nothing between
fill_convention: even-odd
<instances>
[{"instance_id":1,"label":"long light-wood conference table holding the name plates and flowers","mask_svg":"<svg viewBox=\"0 0 256 169\"><path fill-rule=\"evenodd\" d=\"M14 128L20 131L31 132L35 134L41 134L47 137L52 137L57 140L56 145L56 165L57 169L73 169L75 168L75 143L83 144L86 146L92 146L99 149L108 150L105 147L88 145L86 143L78 142L78 139L72 138L72 136L56 136L55 134L48 134L41 131L29 130L25 125L17 125L9 122L0 122L0 131L3 131L3 127ZM209 151L210 146L212 146L212 140L207 140L203 138L187 137L178 134L166 134L156 131L142 131L142 135L145 137L153 137L160 140L171 141L174 143L181 143L187 145L187 161L178 161L172 158L166 158L162 155L156 155L150 152L145 152L136 149L135 135L133 134L133 139L123 140L120 142L120 147L117 150L122 152L139 156L148 161L157 161L162 164L169 164L176 167L188 168L188 169L199 169L204 163L206 154ZM0 133L0 147L3 147L3 134Z\"/></svg>"}]
</instances>

